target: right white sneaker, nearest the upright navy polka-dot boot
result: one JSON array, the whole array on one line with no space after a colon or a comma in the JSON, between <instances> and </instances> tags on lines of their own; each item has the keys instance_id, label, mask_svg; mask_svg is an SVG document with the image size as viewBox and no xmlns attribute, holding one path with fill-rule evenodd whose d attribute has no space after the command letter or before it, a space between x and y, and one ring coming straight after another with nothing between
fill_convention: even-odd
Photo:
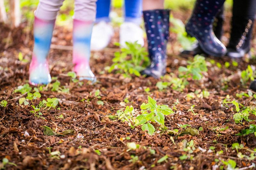
<instances>
[{"instance_id":1,"label":"right white sneaker, nearest the upright navy polka-dot boot","mask_svg":"<svg viewBox=\"0 0 256 170\"><path fill-rule=\"evenodd\" d=\"M120 46L126 47L125 42L134 43L144 46L143 30L137 24L132 22L124 22L120 26Z\"/></svg>"}]
</instances>

